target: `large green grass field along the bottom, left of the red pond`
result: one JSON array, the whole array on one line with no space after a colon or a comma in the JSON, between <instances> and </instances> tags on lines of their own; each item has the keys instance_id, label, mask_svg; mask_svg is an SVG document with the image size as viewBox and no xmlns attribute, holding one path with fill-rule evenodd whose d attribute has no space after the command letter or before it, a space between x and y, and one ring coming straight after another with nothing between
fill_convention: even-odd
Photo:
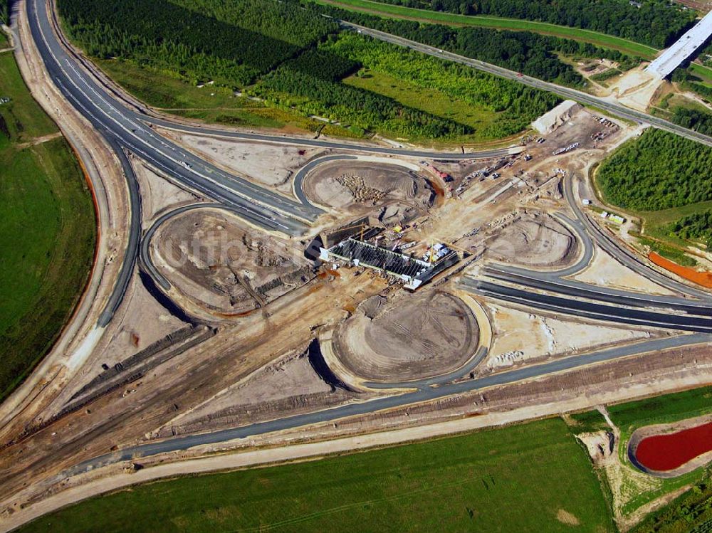
<instances>
[{"instance_id":1,"label":"large green grass field along the bottom, left of the red pond","mask_svg":"<svg viewBox=\"0 0 712 533\"><path fill-rule=\"evenodd\" d=\"M81 502L20 531L48 529L601 533L613 525L587 453L566 424L552 418L308 463L155 482Z\"/></svg>"}]
</instances>

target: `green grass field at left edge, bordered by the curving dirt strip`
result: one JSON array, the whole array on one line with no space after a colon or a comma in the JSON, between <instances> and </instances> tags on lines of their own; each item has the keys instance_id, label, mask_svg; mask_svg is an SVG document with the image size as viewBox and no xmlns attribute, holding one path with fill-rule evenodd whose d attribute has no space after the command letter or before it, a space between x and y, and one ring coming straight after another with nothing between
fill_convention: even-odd
<instances>
[{"instance_id":1,"label":"green grass field at left edge, bordered by the curving dirt strip","mask_svg":"<svg viewBox=\"0 0 712 533\"><path fill-rule=\"evenodd\" d=\"M0 54L0 399L48 352L86 283L91 195L74 154Z\"/></svg>"}]
</instances>

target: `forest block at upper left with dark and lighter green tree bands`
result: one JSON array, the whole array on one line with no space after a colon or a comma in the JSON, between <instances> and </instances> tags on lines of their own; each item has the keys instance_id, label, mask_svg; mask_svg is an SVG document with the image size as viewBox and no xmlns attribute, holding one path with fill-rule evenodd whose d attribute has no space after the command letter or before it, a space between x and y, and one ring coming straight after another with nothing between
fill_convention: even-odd
<instances>
[{"instance_id":1,"label":"forest block at upper left with dark and lighter green tree bands","mask_svg":"<svg viewBox=\"0 0 712 533\"><path fill-rule=\"evenodd\" d=\"M278 1L60 0L58 9L91 56L239 86L337 31L333 21ZM238 16L239 23L230 18Z\"/></svg>"}]
</instances>

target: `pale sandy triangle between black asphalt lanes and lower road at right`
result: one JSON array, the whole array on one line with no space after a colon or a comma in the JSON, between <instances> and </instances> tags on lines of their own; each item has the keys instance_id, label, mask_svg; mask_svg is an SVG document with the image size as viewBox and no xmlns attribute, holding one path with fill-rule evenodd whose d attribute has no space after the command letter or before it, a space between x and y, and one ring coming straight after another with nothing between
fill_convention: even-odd
<instances>
[{"instance_id":1,"label":"pale sandy triangle between black asphalt lanes and lower road at right","mask_svg":"<svg viewBox=\"0 0 712 533\"><path fill-rule=\"evenodd\" d=\"M653 337L640 330L558 320L493 302L484 305L494 329L494 342L486 361L488 369Z\"/></svg>"}]
</instances>

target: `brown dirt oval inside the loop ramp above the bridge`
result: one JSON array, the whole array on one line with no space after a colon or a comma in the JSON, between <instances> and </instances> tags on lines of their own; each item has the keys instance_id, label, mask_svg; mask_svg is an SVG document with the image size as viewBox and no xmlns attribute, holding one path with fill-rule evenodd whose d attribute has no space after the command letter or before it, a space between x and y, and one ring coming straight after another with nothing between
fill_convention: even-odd
<instances>
[{"instance_id":1,"label":"brown dirt oval inside the loop ramp above the bridge","mask_svg":"<svg viewBox=\"0 0 712 533\"><path fill-rule=\"evenodd\" d=\"M389 225L424 215L434 201L433 189L419 174L374 162L320 165L305 178L304 191L321 206L347 216L370 213Z\"/></svg>"}]
</instances>

